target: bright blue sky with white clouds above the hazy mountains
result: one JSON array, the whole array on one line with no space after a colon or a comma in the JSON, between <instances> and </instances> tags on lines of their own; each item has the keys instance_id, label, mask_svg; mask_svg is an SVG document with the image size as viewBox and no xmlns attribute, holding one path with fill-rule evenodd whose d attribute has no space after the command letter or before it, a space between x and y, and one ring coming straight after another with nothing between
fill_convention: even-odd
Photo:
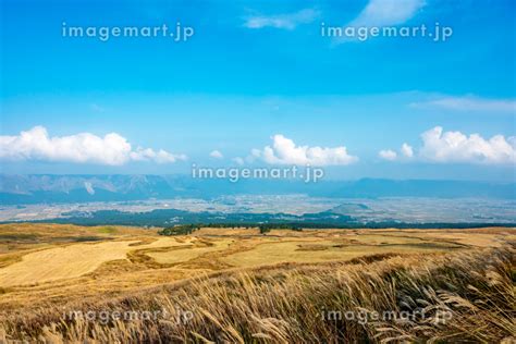
<instances>
[{"instance_id":1,"label":"bright blue sky with white clouds above the hazy mountains","mask_svg":"<svg viewBox=\"0 0 516 344\"><path fill-rule=\"evenodd\" d=\"M1 3L3 172L308 162L336 179L516 180L513 1ZM101 41L62 37L63 22L195 35ZM320 34L435 22L446 41Z\"/></svg>"}]
</instances>

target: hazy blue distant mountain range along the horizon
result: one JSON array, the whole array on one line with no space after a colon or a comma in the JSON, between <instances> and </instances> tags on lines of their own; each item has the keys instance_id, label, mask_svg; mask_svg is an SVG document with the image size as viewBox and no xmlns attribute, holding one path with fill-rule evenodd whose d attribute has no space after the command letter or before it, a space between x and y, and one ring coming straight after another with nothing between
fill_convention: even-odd
<instances>
[{"instance_id":1,"label":"hazy blue distant mountain range along the horizon","mask_svg":"<svg viewBox=\"0 0 516 344\"><path fill-rule=\"evenodd\" d=\"M187 175L51 175L0 174L0 204L123 201L222 195L307 194L314 197L441 197L516 199L516 184L487 182L374 180L195 180Z\"/></svg>"}]
</instances>

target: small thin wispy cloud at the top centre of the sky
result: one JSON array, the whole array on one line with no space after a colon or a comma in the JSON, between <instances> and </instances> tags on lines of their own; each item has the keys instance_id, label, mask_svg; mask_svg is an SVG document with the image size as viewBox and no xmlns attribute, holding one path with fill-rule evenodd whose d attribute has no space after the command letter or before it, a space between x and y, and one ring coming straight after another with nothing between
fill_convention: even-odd
<instances>
[{"instance_id":1,"label":"small thin wispy cloud at the top centre of the sky","mask_svg":"<svg viewBox=\"0 0 516 344\"><path fill-rule=\"evenodd\" d=\"M275 27L294 29L300 24L314 22L319 16L319 11L305 9L294 13L279 15L254 15L246 17L244 26L248 28Z\"/></svg>"}]
</instances>

